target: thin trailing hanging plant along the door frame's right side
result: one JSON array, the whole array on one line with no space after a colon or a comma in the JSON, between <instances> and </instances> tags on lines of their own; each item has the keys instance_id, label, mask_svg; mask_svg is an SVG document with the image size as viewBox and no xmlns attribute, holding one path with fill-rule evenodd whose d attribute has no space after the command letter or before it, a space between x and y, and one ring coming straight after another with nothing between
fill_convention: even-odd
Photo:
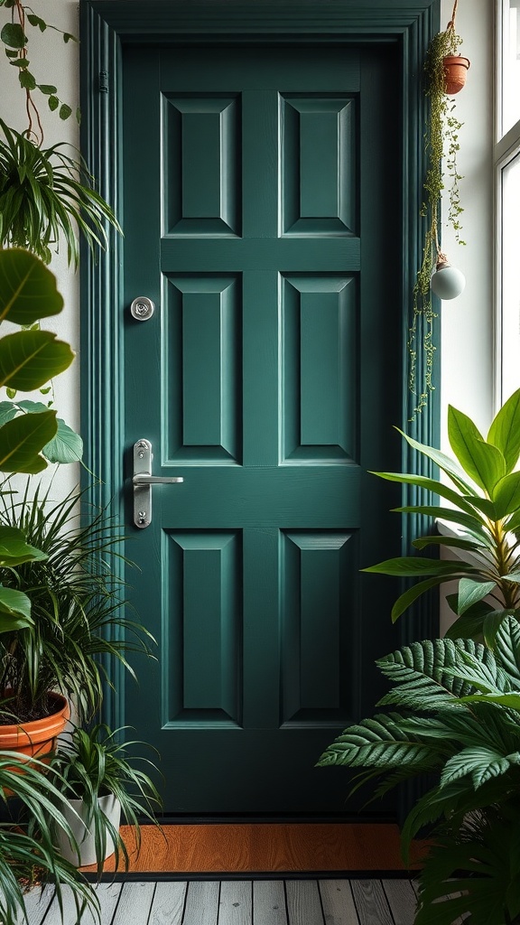
<instances>
[{"instance_id":1,"label":"thin trailing hanging plant along the door frame's right side","mask_svg":"<svg viewBox=\"0 0 520 925\"><path fill-rule=\"evenodd\" d=\"M408 332L409 352L409 389L414 396L414 409L410 420L427 406L430 392L434 390L432 381L434 356L437 350L433 342L433 325L436 314L433 310L431 298L432 275L438 271L434 278L434 291L441 298L454 298L464 289L464 277L460 271L454 270L445 253L440 247L439 206L442 191L445 189L445 176L447 177L448 216L447 225L451 226L455 240L464 244L460 237L462 230L460 216L463 206L460 201L459 182L461 175L457 167L457 154L459 152L459 131L462 122L455 115L455 104L449 93L453 93L452 84L447 81L445 59L454 57L467 62L462 67L469 67L467 58L459 56L458 50L462 39L455 31L455 14L458 0L453 6L452 19L446 31L439 32L432 39L427 49L425 61L426 95L430 106L430 113L425 133L425 151L427 154L427 174L424 183L424 202L421 207L421 216L426 218L426 230L421 265L415 277L413 290L412 322ZM458 89L461 89L459 86ZM455 91L456 92L456 91ZM449 268L452 289L446 289L446 270ZM457 279L458 275L458 279ZM457 291L457 284L459 286ZM419 321L422 325L419 326ZM419 329L421 334L419 335ZM419 337L421 342L419 343ZM418 352L423 353L422 372L417 375Z\"/></svg>"}]
</instances>

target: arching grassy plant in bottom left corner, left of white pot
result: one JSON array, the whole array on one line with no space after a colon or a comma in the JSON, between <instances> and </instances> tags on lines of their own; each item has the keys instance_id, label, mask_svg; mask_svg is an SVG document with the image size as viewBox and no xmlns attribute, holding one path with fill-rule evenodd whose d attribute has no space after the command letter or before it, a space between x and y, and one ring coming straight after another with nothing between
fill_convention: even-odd
<instances>
[{"instance_id":1,"label":"arching grassy plant in bottom left corner, left of white pot","mask_svg":"<svg viewBox=\"0 0 520 925\"><path fill-rule=\"evenodd\" d=\"M99 921L99 901L93 886L53 845L50 813L56 824L72 836L62 811L63 781L37 759L26 763L23 773L15 770L17 764L19 755L0 752L0 802L8 804L17 799L22 806L16 824L0 823L0 921L3 925L19 925L20 915L25 917L24 894L43 883L54 885L62 916L63 888L71 887L78 921L86 908Z\"/></svg>"}]
</instances>

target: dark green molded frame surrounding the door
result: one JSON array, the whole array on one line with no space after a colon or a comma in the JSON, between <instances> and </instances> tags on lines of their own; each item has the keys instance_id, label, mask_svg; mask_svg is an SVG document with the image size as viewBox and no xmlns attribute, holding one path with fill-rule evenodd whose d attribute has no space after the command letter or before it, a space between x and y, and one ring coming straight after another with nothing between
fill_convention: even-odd
<instances>
[{"instance_id":1,"label":"dark green molded frame surrounding the door","mask_svg":"<svg viewBox=\"0 0 520 925\"><path fill-rule=\"evenodd\" d=\"M121 171L121 50L125 44L164 43L393 43L398 48L402 81L397 88L398 139L402 145L402 207L396 227L402 228L402 266L391 285L402 295L402 429L416 440L438 444L440 383L427 408L409 422L413 407L407 384L407 342L411 324L415 272L423 252L424 219L419 215L426 171L423 134L427 104L423 93L423 61L431 37L440 28L440 0L80 0L81 152L101 194L118 214ZM137 143L145 143L145 139ZM403 216L406 216L403 220ZM145 229L143 229L145 231ZM122 241L108 229L109 246L93 263L81 254L81 432L85 463L96 476L89 482L89 500L110 505L123 523L124 395L115 388L124 381L120 337L122 310ZM393 233L393 229L390 229ZM420 328L418 320L418 328ZM440 322L435 339L440 342ZM423 337L417 330L417 341ZM438 347L438 355L439 355ZM420 357L417 357L419 364ZM439 362L437 367L439 367ZM420 381L422 370L417 369ZM396 424L398 422L395 422ZM404 441L403 441L404 443ZM402 471L431 477L432 463L406 445ZM408 487L403 503L413 503ZM417 515L402 517L402 551L424 524ZM113 567L122 573L124 562ZM413 618L398 624L399 642L432 638L438 631L438 599L421 598ZM390 619L390 617L389 617ZM116 692L107 688L104 719L114 728L125 723L124 670L110 666Z\"/></svg>"}]
</instances>

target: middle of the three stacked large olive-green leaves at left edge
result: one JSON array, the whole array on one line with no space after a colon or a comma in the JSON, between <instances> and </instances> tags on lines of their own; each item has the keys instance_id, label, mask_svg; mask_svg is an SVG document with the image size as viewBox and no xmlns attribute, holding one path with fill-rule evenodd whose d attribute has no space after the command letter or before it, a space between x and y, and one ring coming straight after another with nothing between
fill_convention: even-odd
<instances>
[{"instance_id":1,"label":"middle of the three stacked large olive-green leaves at left edge","mask_svg":"<svg viewBox=\"0 0 520 925\"><path fill-rule=\"evenodd\" d=\"M74 353L52 331L17 331L0 339L0 386L29 392L72 363Z\"/></svg>"}]
</instances>

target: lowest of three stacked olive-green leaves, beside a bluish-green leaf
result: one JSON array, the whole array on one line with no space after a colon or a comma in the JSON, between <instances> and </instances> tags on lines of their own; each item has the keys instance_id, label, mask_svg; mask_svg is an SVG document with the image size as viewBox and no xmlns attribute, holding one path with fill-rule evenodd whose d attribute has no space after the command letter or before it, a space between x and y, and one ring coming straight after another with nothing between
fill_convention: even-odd
<instances>
[{"instance_id":1,"label":"lowest of three stacked olive-green leaves, beside a bluish-green leaf","mask_svg":"<svg viewBox=\"0 0 520 925\"><path fill-rule=\"evenodd\" d=\"M43 472L47 463L39 454L56 430L56 411L22 414L8 421L0 427L0 472Z\"/></svg>"}]
</instances>

